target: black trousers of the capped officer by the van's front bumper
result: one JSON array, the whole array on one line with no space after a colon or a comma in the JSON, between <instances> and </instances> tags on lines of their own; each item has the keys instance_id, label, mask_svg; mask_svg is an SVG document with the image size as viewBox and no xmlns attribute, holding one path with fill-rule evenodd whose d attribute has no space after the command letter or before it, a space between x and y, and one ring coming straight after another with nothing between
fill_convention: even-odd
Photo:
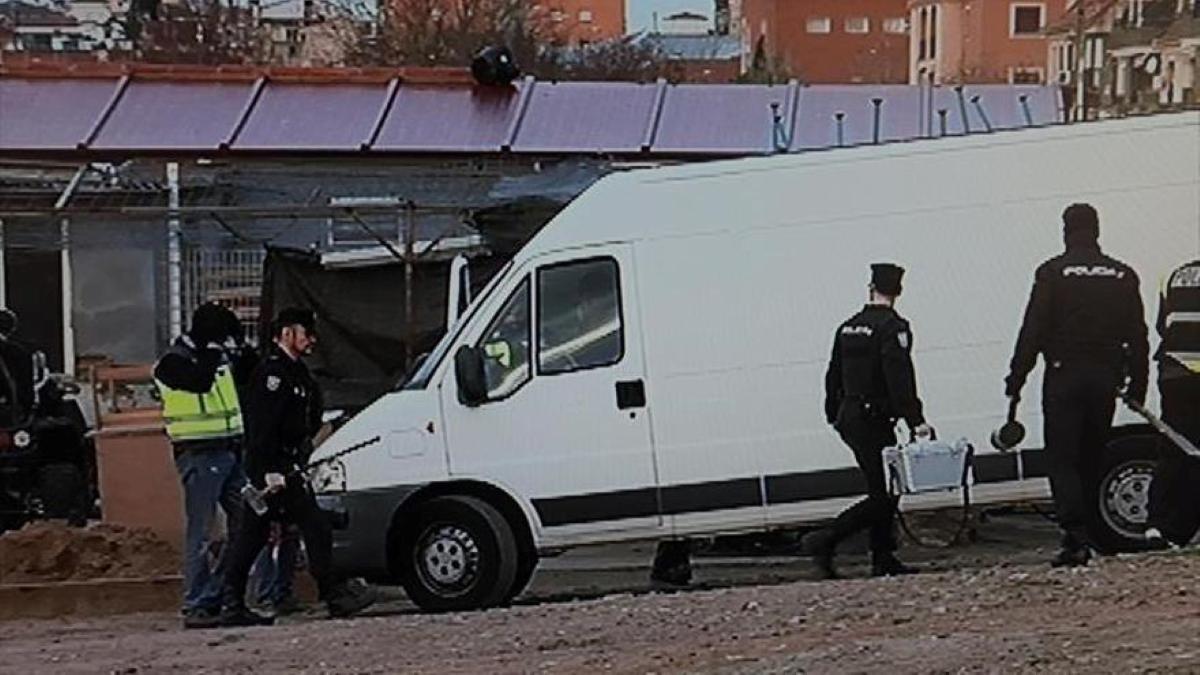
<instances>
[{"instance_id":1,"label":"black trousers of the capped officer by the van's front bumper","mask_svg":"<svg viewBox=\"0 0 1200 675\"><path fill-rule=\"evenodd\" d=\"M329 516L317 507L317 500L299 479L288 477L283 491L266 497L270 509L258 515L251 508L242 509L241 526L233 537L233 558L226 571L226 607L241 607L246 597L246 580L254 560L266 545L271 522L294 524L300 527L305 550L308 554L308 572L317 581L322 599L329 599L337 579L334 578L334 533Z\"/></svg>"}]
</instances>

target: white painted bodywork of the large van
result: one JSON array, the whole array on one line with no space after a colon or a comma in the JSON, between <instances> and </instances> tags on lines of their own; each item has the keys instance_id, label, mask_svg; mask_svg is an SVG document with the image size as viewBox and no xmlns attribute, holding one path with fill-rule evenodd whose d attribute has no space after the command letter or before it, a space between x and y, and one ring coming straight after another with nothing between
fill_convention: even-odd
<instances>
[{"instance_id":1,"label":"white painted bodywork of the large van","mask_svg":"<svg viewBox=\"0 0 1200 675\"><path fill-rule=\"evenodd\" d=\"M1141 275L1153 325L1159 275L1200 257L1200 113L613 174L516 256L425 389L384 396L324 448L433 417L440 465L364 450L346 460L348 494L460 473L492 480L533 514L540 546L828 518L862 494L822 410L833 333L865 300L868 265L890 261L908 270L898 309L913 327L926 417L942 437L970 438L977 478L988 474L974 501L1044 496L1040 453L1001 456L986 440L1006 412L1033 271L1062 251L1073 202L1097 207L1100 243ZM636 348L607 371L535 374L504 401L460 404L454 351L478 344L523 277L594 255L620 264ZM612 387L635 376L648 405L631 420ZM1021 418L1025 447L1040 448L1039 372ZM622 518L647 490L660 513ZM587 518L547 525L547 503Z\"/></svg>"}]
</instances>

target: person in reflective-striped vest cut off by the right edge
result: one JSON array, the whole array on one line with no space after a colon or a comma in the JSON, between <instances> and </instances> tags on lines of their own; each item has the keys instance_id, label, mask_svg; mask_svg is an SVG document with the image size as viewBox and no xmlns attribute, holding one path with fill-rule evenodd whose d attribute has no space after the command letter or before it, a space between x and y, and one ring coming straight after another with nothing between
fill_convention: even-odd
<instances>
[{"instance_id":1,"label":"person in reflective-striped vest cut off by the right edge","mask_svg":"<svg viewBox=\"0 0 1200 675\"><path fill-rule=\"evenodd\" d=\"M1163 280L1158 301L1158 393L1163 422L1200 446L1200 261L1175 269ZM1153 548L1184 545L1200 528L1200 459L1174 444L1165 452L1150 484L1146 539Z\"/></svg>"}]
</instances>

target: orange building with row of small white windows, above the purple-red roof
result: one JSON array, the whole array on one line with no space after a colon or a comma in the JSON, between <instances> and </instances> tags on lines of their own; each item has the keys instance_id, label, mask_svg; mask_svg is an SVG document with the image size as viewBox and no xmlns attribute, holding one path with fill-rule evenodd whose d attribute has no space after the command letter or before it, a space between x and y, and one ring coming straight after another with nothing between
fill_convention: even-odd
<instances>
[{"instance_id":1,"label":"orange building with row of small white windows, above the purple-red roof","mask_svg":"<svg viewBox=\"0 0 1200 675\"><path fill-rule=\"evenodd\" d=\"M743 70L810 84L902 84L906 14L906 0L744 0Z\"/></svg>"}]
</instances>

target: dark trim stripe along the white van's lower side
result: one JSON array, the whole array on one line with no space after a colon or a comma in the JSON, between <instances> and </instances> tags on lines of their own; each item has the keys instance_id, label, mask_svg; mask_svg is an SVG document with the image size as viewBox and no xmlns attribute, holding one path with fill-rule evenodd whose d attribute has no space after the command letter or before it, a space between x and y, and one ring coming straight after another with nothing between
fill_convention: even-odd
<instances>
[{"instance_id":1,"label":"dark trim stripe along the white van's lower side","mask_svg":"<svg viewBox=\"0 0 1200 675\"><path fill-rule=\"evenodd\" d=\"M1045 476L1045 453L1025 450L1021 454L1025 477ZM977 484L1016 480L1016 455L989 453L974 458ZM858 468L830 468L797 473L779 473L766 478L767 503L787 504L853 497L866 494L866 484ZM659 498L661 497L661 512ZM593 492L534 500L544 526L576 525L620 520L624 518L652 518L684 513L703 513L731 508L762 506L762 494L757 478L736 478L709 483L668 485L661 494L656 488Z\"/></svg>"}]
</instances>

